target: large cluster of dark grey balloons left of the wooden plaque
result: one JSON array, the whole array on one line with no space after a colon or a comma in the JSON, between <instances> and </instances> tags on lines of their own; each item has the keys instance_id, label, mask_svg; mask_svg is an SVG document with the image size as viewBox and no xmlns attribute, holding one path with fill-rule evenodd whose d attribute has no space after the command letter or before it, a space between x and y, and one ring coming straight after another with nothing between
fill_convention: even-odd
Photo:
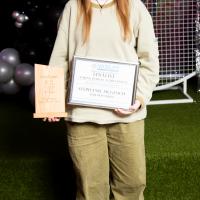
<instances>
[{"instance_id":1,"label":"large cluster of dark grey balloons left of the wooden plaque","mask_svg":"<svg viewBox=\"0 0 200 200\"><path fill-rule=\"evenodd\" d=\"M0 93L16 94L23 86L30 86L29 98L34 103L34 67L20 63L19 52L6 48L0 52Z\"/></svg>"}]
</instances>

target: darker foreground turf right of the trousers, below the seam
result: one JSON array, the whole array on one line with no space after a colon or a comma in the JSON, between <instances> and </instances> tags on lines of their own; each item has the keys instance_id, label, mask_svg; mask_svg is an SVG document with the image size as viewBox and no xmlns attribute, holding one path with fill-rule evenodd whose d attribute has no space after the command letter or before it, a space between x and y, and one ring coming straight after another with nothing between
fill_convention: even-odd
<instances>
[{"instance_id":1,"label":"darker foreground turf right of the trousers, below the seam","mask_svg":"<svg viewBox=\"0 0 200 200\"><path fill-rule=\"evenodd\" d=\"M200 155L168 153L147 159L146 200L200 199Z\"/></svg>"}]
</instances>

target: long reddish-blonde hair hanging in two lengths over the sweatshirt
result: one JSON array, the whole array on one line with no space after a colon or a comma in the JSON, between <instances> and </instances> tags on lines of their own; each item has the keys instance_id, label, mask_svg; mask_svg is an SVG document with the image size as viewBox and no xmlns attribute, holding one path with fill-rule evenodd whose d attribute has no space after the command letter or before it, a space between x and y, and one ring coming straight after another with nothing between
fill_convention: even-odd
<instances>
[{"instance_id":1,"label":"long reddish-blonde hair hanging in two lengths over the sweatshirt","mask_svg":"<svg viewBox=\"0 0 200 200\"><path fill-rule=\"evenodd\" d=\"M116 9L119 22L123 27L123 39L127 40L131 37L130 29L130 11L129 11L129 0L115 0ZM92 20L92 4L91 0L78 0L78 21L83 16L83 42L88 40L90 33L90 26Z\"/></svg>"}]
</instances>

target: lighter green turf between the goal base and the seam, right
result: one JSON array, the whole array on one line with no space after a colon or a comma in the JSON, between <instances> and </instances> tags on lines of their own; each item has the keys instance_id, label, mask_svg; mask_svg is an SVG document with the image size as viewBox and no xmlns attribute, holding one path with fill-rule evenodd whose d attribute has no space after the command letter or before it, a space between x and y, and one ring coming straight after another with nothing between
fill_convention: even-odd
<instances>
[{"instance_id":1,"label":"lighter green turf between the goal base and the seam, right","mask_svg":"<svg viewBox=\"0 0 200 200\"><path fill-rule=\"evenodd\" d=\"M150 106L146 119L147 153L200 154L200 104Z\"/></svg>"}]
</instances>

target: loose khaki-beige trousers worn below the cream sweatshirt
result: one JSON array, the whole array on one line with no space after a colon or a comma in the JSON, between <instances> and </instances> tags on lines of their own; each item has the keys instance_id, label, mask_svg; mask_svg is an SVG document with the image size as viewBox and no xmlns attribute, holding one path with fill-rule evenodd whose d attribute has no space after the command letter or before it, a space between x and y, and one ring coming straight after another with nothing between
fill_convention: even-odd
<instances>
[{"instance_id":1,"label":"loose khaki-beige trousers worn below the cream sweatshirt","mask_svg":"<svg viewBox=\"0 0 200 200\"><path fill-rule=\"evenodd\" d=\"M144 120L98 125L67 122L76 200L143 200Z\"/></svg>"}]
</instances>

